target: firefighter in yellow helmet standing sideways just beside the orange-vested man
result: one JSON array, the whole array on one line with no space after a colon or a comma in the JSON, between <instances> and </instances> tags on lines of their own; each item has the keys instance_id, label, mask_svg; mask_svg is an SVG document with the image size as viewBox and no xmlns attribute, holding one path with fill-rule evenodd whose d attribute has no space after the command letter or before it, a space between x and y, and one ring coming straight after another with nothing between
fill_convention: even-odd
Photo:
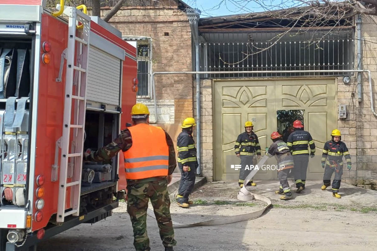
<instances>
[{"instance_id":1,"label":"firefighter in yellow helmet standing sideways just beside the orange-vested man","mask_svg":"<svg viewBox=\"0 0 377 251\"><path fill-rule=\"evenodd\" d=\"M182 132L177 138L178 168L181 170L181 183L179 183L176 202L180 207L185 208L193 204L192 201L189 201L189 195L194 188L196 167L198 167L195 142L192 137L195 125L195 119L186 118L181 125Z\"/></svg>"}]
</instances>

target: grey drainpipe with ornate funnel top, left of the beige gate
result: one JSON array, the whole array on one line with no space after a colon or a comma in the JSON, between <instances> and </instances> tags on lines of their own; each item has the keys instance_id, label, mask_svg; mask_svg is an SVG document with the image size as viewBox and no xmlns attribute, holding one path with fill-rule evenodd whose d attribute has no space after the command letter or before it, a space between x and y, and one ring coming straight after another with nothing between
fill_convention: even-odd
<instances>
[{"instance_id":1,"label":"grey drainpipe with ornate funnel top, left of the beige gate","mask_svg":"<svg viewBox=\"0 0 377 251\"><path fill-rule=\"evenodd\" d=\"M200 71L200 57L199 57L199 30L198 21L201 11L198 9L186 9L187 18L189 19L191 33L195 44L195 71ZM196 74L196 158L198 160L198 168L196 175L201 176L201 158L202 158L202 143L201 143L201 109L200 109L200 75Z\"/></svg>"}]
</instances>

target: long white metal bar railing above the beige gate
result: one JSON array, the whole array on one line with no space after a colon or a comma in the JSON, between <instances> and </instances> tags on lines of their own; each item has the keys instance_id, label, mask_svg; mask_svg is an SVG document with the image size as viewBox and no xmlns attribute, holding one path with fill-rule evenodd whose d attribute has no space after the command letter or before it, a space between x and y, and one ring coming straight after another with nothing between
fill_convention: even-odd
<instances>
[{"instance_id":1,"label":"long white metal bar railing above the beige gate","mask_svg":"<svg viewBox=\"0 0 377 251\"><path fill-rule=\"evenodd\" d=\"M203 33L200 68L214 72L205 78L347 75L342 70L354 69L353 37L352 29L331 33L287 33L280 38L279 33L272 32ZM302 72L284 72L293 70ZM216 74L216 71L230 73ZM231 73L234 71L256 73Z\"/></svg>"}]
</instances>

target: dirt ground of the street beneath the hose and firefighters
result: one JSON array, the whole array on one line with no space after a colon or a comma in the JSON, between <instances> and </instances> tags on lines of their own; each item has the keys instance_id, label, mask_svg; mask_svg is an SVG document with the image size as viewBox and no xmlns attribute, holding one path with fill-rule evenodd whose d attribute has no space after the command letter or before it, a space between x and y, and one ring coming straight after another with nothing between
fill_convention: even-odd
<instances>
[{"instance_id":1,"label":"dirt ground of the street beneath the hose and firefighters","mask_svg":"<svg viewBox=\"0 0 377 251\"><path fill-rule=\"evenodd\" d=\"M343 185L342 199L320 190L320 182L309 182L304 193L290 201L274 194L275 181L257 182L248 188L271 199L273 207L250 221L210 226L175 227L179 251L295 251L295 250L375 250L377 246L377 191ZM172 219L193 223L227 215L255 211L264 202L237 201L235 182L207 183L192 194L195 204L189 209L172 201ZM173 198L173 194L171 197ZM147 231L153 251L164 250L158 227L147 218ZM81 224L38 245L38 251L128 251L133 234L126 203L113 216L96 224Z\"/></svg>"}]
</instances>

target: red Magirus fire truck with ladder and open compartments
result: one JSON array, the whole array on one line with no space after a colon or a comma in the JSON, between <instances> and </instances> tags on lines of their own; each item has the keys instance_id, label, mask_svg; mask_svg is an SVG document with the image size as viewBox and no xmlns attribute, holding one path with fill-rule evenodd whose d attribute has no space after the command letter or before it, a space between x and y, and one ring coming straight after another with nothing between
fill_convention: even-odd
<instances>
[{"instance_id":1,"label":"red Magirus fire truck with ladder and open compartments","mask_svg":"<svg viewBox=\"0 0 377 251\"><path fill-rule=\"evenodd\" d=\"M43 2L0 0L0 251L111 216L126 188L119 154L83 152L130 122L136 50L86 6Z\"/></svg>"}]
</instances>

